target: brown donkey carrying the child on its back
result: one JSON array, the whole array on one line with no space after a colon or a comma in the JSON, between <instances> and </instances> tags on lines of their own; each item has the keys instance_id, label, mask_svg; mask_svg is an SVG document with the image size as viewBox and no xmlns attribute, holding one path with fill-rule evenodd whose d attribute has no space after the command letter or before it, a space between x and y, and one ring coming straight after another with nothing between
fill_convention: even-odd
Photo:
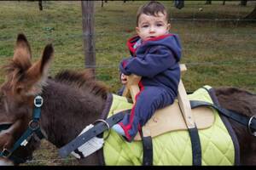
<instances>
[{"instance_id":1,"label":"brown donkey carrying the child on its back","mask_svg":"<svg viewBox=\"0 0 256 170\"><path fill-rule=\"evenodd\" d=\"M14 58L4 67L6 80L0 88L0 151L8 152L26 131L34 98L41 94L44 99L39 126L45 138L56 147L67 144L84 127L101 117L106 105L108 90L94 80L88 71L62 71L55 78L48 77L53 47L44 48L42 58L32 64L29 43L23 34L17 38ZM253 116L256 111L256 95L237 88L215 88L219 104L226 109ZM256 165L256 140L247 127L231 121L240 145L242 165ZM19 164L32 158L39 145L37 134L26 139L28 144L12 153L1 156L0 165ZM3 153L2 151L2 153ZM84 158L84 165L99 165L98 152Z\"/></svg>"}]
</instances>

